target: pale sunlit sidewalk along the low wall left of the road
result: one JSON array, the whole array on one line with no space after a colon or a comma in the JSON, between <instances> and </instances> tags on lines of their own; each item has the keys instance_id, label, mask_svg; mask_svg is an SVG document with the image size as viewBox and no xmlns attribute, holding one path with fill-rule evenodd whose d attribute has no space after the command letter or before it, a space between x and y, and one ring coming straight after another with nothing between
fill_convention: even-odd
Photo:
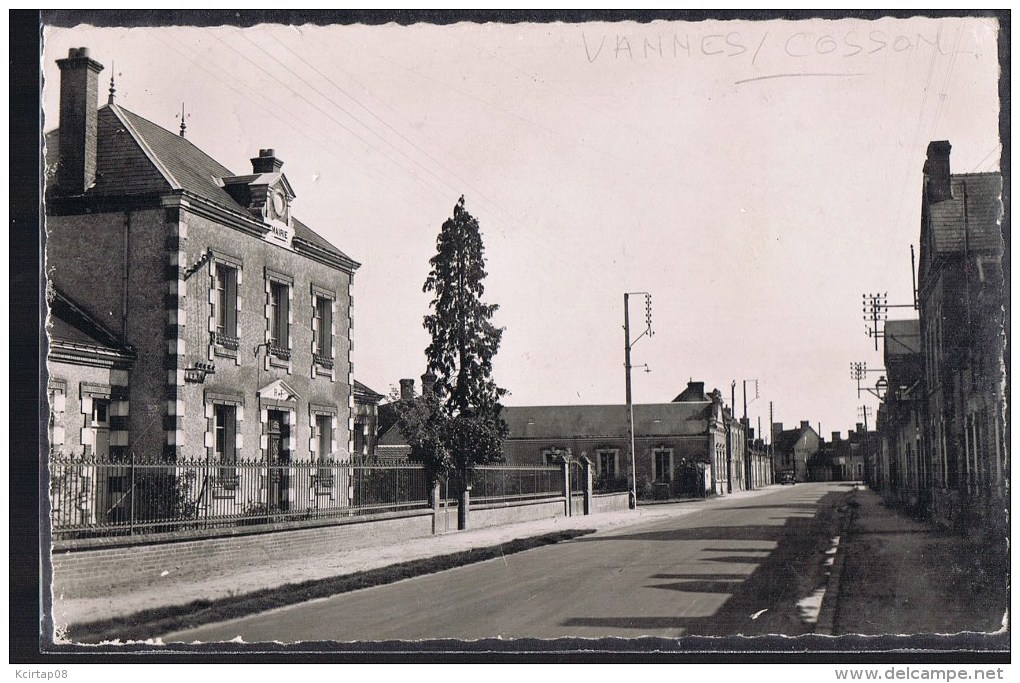
<instances>
[{"instance_id":1,"label":"pale sunlit sidewalk along the low wall left of the road","mask_svg":"<svg viewBox=\"0 0 1020 683\"><path fill-rule=\"evenodd\" d=\"M688 515L725 502L761 495L769 490L764 488L738 491L707 501L640 506L636 510L601 515L556 517L519 524L453 531L416 538L399 545L361 547L342 554L297 557L286 562L244 566L231 574L210 576L201 581L183 579L170 574L155 585L100 597L73 598L54 595L54 625L59 631L70 624L122 617L152 608L187 605L197 599L214 600L243 595L289 583L354 574L410 560L432 558L472 547L498 545L516 538L541 536L566 529L606 531Z\"/></svg>"}]
</instances>

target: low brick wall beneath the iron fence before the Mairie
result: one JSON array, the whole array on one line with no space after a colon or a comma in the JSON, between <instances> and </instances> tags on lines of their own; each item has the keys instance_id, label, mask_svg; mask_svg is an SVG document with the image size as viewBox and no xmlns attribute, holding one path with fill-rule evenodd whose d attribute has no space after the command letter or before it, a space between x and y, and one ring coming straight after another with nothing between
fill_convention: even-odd
<instances>
[{"instance_id":1,"label":"low brick wall beneath the iron fence before the Mairie","mask_svg":"<svg viewBox=\"0 0 1020 683\"><path fill-rule=\"evenodd\" d=\"M205 578L259 567L295 557L314 558L346 549L399 543L430 536L432 511L388 513L351 518L309 528L244 527L214 538L176 539L157 536L104 539L101 547L55 545L53 588L74 597L94 597L111 590L156 583L162 572Z\"/></svg>"}]
</instances>

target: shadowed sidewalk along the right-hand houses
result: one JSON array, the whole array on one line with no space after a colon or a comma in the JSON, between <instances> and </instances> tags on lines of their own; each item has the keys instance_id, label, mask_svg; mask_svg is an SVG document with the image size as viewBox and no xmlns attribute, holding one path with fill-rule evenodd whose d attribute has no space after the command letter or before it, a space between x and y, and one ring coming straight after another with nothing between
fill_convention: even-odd
<instances>
[{"instance_id":1,"label":"shadowed sidewalk along the right-hand houses","mask_svg":"<svg viewBox=\"0 0 1020 683\"><path fill-rule=\"evenodd\" d=\"M833 634L991 633L1008 608L1008 559L886 508L866 488L840 553Z\"/></svg>"}]
</instances>

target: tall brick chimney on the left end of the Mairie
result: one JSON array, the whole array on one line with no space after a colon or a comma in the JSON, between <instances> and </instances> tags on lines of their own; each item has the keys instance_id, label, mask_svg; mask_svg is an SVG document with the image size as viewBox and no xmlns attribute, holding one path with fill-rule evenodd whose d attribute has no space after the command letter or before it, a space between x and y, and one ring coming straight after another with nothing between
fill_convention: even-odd
<instances>
[{"instance_id":1,"label":"tall brick chimney on the left end of the Mairie","mask_svg":"<svg viewBox=\"0 0 1020 683\"><path fill-rule=\"evenodd\" d=\"M83 195L96 181L99 72L103 65L89 48L71 48L60 67L60 138L57 187L64 195Z\"/></svg>"}]
</instances>

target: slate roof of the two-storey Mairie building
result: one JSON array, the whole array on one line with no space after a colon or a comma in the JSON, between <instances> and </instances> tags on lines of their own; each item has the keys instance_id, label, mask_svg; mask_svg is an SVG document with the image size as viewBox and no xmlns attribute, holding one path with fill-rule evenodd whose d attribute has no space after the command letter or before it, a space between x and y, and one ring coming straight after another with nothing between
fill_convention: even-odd
<instances>
[{"instance_id":1,"label":"slate roof of the two-storey Mairie building","mask_svg":"<svg viewBox=\"0 0 1020 683\"><path fill-rule=\"evenodd\" d=\"M51 172L56 166L59 130L46 135L46 162ZM252 174L257 177L258 174ZM52 177L52 175L51 175ZM96 182L88 190L93 197L163 195L183 191L205 199L221 209L251 218L247 209L221 187L222 178L236 173L200 150L187 138L139 116L116 104L100 107ZM294 235L327 254L359 264L296 218Z\"/></svg>"}]
</instances>

